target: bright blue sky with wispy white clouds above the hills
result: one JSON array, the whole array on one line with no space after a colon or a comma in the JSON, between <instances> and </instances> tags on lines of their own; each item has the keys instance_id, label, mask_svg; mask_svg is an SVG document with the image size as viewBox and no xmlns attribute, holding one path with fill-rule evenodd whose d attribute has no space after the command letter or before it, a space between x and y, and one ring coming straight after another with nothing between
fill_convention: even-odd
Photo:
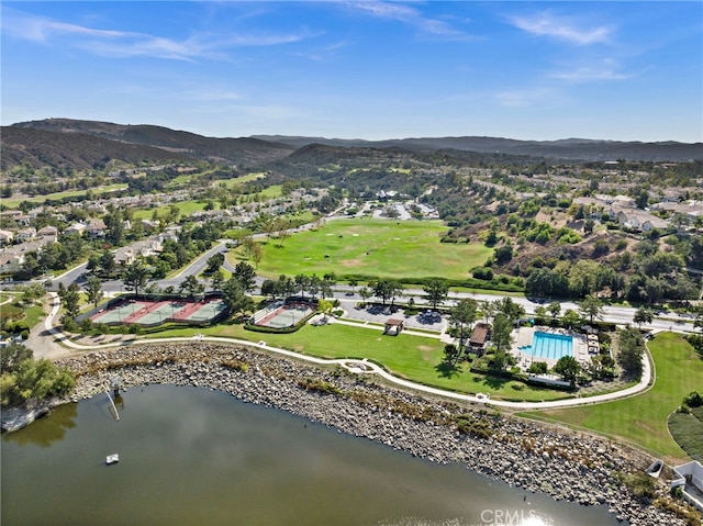
<instances>
[{"instance_id":1,"label":"bright blue sky with wispy white clouds above the hills","mask_svg":"<svg viewBox=\"0 0 703 526\"><path fill-rule=\"evenodd\" d=\"M703 2L13 2L3 125L703 141Z\"/></svg>"}]
</instances>

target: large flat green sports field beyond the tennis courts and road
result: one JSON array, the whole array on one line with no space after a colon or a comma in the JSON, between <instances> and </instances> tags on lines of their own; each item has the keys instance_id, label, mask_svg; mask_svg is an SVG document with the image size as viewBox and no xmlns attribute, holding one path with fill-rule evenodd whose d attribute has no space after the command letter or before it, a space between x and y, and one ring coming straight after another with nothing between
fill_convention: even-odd
<instances>
[{"instance_id":1,"label":"large flat green sports field beyond the tennis courts and road","mask_svg":"<svg viewBox=\"0 0 703 526\"><path fill-rule=\"evenodd\" d=\"M483 245L443 244L446 232L440 221L330 221L317 231L292 235L282 246L278 239L265 243L257 273L466 279L469 269L493 253Z\"/></svg>"}]
</instances>

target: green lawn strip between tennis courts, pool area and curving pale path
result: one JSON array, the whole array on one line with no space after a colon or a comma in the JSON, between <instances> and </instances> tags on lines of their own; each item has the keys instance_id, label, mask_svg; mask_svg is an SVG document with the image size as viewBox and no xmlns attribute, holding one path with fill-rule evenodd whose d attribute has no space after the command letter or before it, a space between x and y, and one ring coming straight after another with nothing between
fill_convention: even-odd
<instances>
[{"instance_id":1,"label":"green lawn strip between tennis courts, pool area and curving pale path","mask_svg":"<svg viewBox=\"0 0 703 526\"><path fill-rule=\"evenodd\" d=\"M460 367L451 374L438 367L444 358L444 344L437 338L401 334L387 336L376 328L343 324L305 325L292 334L265 334L245 331L242 325L219 325L209 328L178 328L156 332L147 337L225 336L249 342L264 340L267 345L322 358L368 358L382 365L394 376L436 388L461 393L487 393L492 398L510 400L558 400L567 393L525 385L468 371Z\"/></svg>"}]
</instances>

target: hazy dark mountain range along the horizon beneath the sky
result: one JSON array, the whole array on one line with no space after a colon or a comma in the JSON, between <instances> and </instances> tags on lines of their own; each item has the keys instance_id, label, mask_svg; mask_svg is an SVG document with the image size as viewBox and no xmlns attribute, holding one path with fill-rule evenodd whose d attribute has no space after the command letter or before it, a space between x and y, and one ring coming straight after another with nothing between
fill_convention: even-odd
<instances>
[{"instance_id":1,"label":"hazy dark mountain range along the horizon beneath the sky","mask_svg":"<svg viewBox=\"0 0 703 526\"><path fill-rule=\"evenodd\" d=\"M205 137L190 132L147 124L115 124L72 119L45 119L3 126L0 166L29 163L86 169L112 159L136 164L204 159L254 167L282 161L293 152L321 145L344 148L345 155L362 158L373 150L398 155L442 153L456 158L480 155L531 157L562 160L703 160L703 143L639 143L568 138L562 141L517 141L501 137L421 137L388 141L338 139L284 135L255 135L238 138ZM357 149L355 152L355 149ZM292 159L291 159L292 160Z\"/></svg>"}]
</instances>

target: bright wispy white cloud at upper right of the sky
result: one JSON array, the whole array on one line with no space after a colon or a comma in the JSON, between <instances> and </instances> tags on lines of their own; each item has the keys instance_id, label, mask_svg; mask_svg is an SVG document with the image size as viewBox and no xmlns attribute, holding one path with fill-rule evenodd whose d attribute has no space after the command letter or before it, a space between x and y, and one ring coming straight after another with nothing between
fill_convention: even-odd
<instances>
[{"instance_id":1,"label":"bright wispy white cloud at upper right of the sky","mask_svg":"<svg viewBox=\"0 0 703 526\"><path fill-rule=\"evenodd\" d=\"M549 11L533 15L511 16L510 22L527 33L551 36L579 45L602 44L610 41L612 27L604 25L579 27L571 19L555 16Z\"/></svg>"}]
</instances>

